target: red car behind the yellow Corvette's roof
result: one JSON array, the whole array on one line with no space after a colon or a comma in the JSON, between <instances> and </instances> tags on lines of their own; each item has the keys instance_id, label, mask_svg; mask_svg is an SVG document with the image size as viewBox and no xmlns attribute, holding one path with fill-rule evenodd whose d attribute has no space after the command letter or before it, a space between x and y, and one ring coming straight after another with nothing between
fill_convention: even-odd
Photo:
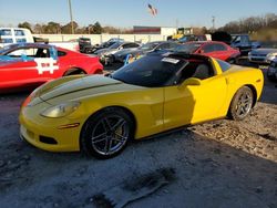
<instances>
[{"instance_id":1,"label":"red car behind the yellow Corvette's roof","mask_svg":"<svg viewBox=\"0 0 277 208\"><path fill-rule=\"evenodd\" d=\"M236 59L240 55L239 50L216 41L193 41L186 42L178 46L176 51L187 53L201 53L207 56L212 56L218 60L235 63Z\"/></svg>"}]
</instances>

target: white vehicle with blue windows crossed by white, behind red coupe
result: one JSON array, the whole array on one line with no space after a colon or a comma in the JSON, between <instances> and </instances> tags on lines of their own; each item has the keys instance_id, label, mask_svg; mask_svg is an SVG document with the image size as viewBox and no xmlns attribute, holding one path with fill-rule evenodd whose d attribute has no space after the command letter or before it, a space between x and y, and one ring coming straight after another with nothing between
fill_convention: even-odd
<instances>
[{"instance_id":1,"label":"white vehicle with blue windows crossed by white, behind red coupe","mask_svg":"<svg viewBox=\"0 0 277 208\"><path fill-rule=\"evenodd\" d=\"M33 35L24 28L0 28L0 48L12 43L33 43Z\"/></svg>"}]
</instances>

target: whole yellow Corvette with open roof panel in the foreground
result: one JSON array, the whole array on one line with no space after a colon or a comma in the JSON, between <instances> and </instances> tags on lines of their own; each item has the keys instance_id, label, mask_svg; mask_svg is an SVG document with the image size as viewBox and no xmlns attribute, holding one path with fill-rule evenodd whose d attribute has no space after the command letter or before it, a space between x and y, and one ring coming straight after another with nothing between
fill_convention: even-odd
<instances>
[{"instance_id":1,"label":"whole yellow Corvette with open roof panel in the foreground","mask_svg":"<svg viewBox=\"0 0 277 208\"><path fill-rule=\"evenodd\" d=\"M153 53L106 76L66 76L40 86L22 104L20 134L45 150L109 158L132 138L225 116L243 119L263 85L257 69Z\"/></svg>"}]
</instances>

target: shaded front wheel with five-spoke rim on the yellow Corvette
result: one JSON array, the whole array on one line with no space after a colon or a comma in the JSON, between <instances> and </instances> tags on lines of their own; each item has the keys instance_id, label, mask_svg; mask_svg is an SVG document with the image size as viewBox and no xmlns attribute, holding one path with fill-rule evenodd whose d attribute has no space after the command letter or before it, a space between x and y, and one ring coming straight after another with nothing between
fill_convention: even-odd
<instances>
[{"instance_id":1,"label":"shaded front wheel with five-spoke rim on the yellow Corvette","mask_svg":"<svg viewBox=\"0 0 277 208\"><path fill-rule=\"evenodd\" d=\"M107 159L119 155L134 137L134 122L122 108L109 107L92 115L81 133L85 155Z\"/></svg>"}]
</instances>

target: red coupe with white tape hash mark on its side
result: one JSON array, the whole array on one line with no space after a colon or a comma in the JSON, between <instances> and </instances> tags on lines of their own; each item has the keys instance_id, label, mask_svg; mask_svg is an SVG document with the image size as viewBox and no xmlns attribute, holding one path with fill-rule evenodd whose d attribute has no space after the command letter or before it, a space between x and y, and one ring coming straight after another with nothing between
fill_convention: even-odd
<instances>
[{"instance_id":1,"label":"red coupe with white tape hash mark on its side","mask_svg":"<svg viewBox=\"0 0 277 208\"><path fill-rule=\"evenodd\" d=\"M0 50L0 92L40 85L65 75L101 74L98 56L50 44L11 44Z\"/></svg>"}]
</instances>

